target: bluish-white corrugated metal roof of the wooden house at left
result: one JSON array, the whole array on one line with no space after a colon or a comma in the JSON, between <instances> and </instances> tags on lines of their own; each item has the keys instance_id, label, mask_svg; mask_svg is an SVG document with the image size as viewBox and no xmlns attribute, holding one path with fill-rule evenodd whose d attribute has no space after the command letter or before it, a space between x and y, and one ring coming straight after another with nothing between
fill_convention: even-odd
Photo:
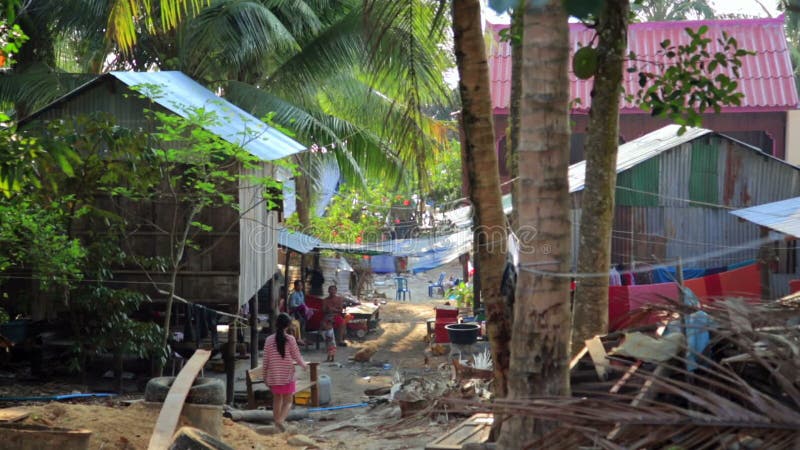
<instances>
[{"instance_id":1,"label":"bluish-white corrugated metal roof of the wooden house at left","mask_svg":"<svg viewBox=\"0 0 800 450\"><path fill-rule=\"evenodd\" d=\"M205 127L208 131L240 145L254 156L272 161L305 150L305 147L275 128L253 117L229 101L217 97L182 72L111 72L128 86L144 86L142 93L181 117L203 108L214 112L218 121Z\"/></svg>"}]
</instances>

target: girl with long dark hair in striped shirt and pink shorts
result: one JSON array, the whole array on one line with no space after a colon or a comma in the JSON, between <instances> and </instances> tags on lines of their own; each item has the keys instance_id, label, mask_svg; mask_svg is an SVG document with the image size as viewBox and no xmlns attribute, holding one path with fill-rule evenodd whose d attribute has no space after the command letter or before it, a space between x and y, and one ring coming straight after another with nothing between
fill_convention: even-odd
<instances>
[{"instance_id":1,"label":"girl with long dark hair in striped shirt and pink shorts","mask_svg":"<svg viewBox=\"0 0 800 450\"><path fill-rule=\"evenodd\" d=\"M294 365L297 363L304 370L308 370L297 341L286 328L292 323L292 318L281 313L275 320L275 334L271 334L264 342L264 381L272 391L272 416L275 427L284 430L283 422L292 409L292 400L295 392Z\"/></svg>"}]
</instances>

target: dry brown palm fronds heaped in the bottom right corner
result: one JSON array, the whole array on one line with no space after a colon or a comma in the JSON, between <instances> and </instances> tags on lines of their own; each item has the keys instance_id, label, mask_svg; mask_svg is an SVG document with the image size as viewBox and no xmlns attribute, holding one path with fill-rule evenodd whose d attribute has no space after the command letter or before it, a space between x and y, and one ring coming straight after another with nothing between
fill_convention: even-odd
<instances>
[{"instance_id":1,"label":"dry brown palm fronds heaped in the bottom right corner","mask_svg":"<svg viewBox=\"0 0 800 450\"><path fill-rule=\"evenodd\" d=\"M700 311L710 325L690 320ZM638 392L582 391L579 384L577 397L510 396L494 401L496 417L522 415L549 424L552 431L525 448L797 448L800 311L727 299L704 306L669 303L649 312L673 319L668 329L708 332L709 345L702 352L684 345L669 361L646 364L650 370L642 365L632 371L630 359L612 358L610 370L632 374L626 384L638 385ZM690 356L696 370L687 369Z\"/></svg>"}]
</instances>

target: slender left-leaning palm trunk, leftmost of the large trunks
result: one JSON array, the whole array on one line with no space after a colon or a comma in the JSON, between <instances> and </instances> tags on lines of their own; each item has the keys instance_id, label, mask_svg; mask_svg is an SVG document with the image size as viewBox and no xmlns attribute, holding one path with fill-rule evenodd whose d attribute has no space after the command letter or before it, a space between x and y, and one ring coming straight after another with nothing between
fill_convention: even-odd
<instances>
[{"instance_id":1,"label":"slender left-leaning palm trunk, leftmost of the large trunks","mask_svg":"<svg viewBox=\"0 0 800 450\"><path fill-rule=\"evenodd\" d=\"M506 395L511 322L500 285L506 262L506 226L500 198L500 174L494 148L489 66L481 30L478 0L454 0L453 36L461 93L461 120L469 198L476 231L476 274L486 307L486 331L492 349L495 395Z\"/></svg>"}]
</instances>

